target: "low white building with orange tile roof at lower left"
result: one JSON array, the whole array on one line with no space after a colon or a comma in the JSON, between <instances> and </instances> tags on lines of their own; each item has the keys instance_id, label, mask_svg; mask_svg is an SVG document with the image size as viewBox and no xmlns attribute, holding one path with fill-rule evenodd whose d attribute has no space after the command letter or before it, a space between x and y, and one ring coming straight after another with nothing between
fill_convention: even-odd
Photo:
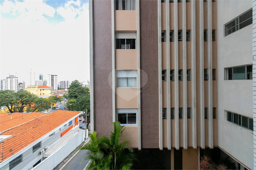
<instances>
[{"instance_id":1,"label":"low white building with orange tile roof at lower left","mask_svg":"<svg viewBox=\"0 0 256 170\"><path fill-rule=\"evenodd\" d=\"M85 137L80 112L0 114L0 169L53 169ZM23 118L23 119L22 119Z\"/></svg>"}]
</instances>

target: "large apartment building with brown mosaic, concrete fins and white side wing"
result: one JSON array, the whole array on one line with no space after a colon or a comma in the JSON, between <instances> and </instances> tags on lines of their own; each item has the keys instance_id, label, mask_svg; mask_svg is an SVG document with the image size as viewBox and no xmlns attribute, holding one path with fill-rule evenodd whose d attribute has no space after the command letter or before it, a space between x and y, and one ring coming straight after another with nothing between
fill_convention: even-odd
<instances>
[{"instance_id":1,"label":"large apartment building with brown mosaic, concrete fins and white side wing","mask_svg":"<svg viewBox=\"0 0 256 170\"><path fill-rule=\"evenodd\" d=\"M89 0L89 14L92 131L120 121L131 147L169 154L169 169L198 169L206 154L253 169L252 0Z\"/></svg>"}]
</instances>

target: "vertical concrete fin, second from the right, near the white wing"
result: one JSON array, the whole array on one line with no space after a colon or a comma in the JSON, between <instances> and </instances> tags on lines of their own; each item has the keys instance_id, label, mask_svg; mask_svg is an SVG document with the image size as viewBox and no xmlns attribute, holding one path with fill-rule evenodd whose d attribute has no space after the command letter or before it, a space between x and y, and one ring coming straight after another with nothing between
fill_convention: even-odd
<instances>
[{"instance_id":1,"label":"vertical concrete fin, second from the right, near the white wing","mask_svg":"<svg viewBox=\"0 0 256 170\"><path fill-rule=\"evenodd\" d=\"M204 119L204 2L199 0L199 58L200 58L200 147L205 148Z\"/></svg>"}]
</instances>

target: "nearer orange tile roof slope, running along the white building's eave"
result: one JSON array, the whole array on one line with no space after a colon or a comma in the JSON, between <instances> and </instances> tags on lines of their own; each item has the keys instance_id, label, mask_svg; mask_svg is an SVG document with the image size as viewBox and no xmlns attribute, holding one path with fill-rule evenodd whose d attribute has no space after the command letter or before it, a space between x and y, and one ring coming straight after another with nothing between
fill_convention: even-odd
<instances>
[{"instance_id":1,"label":"nearer orange tile roof slope, running along the white building's eave","mask_svg":"<svg viewBox=\"0 0 256 170\"><path fill-rule=\"evenodd\" d=\"M79 113L57 110L3 132L1 135L12 136L0 142L0 151L3 151L3 154L0 155L0 162L29 146ZM56 119L57 117L58 119Z\"/></svg>"}]
</instances>

